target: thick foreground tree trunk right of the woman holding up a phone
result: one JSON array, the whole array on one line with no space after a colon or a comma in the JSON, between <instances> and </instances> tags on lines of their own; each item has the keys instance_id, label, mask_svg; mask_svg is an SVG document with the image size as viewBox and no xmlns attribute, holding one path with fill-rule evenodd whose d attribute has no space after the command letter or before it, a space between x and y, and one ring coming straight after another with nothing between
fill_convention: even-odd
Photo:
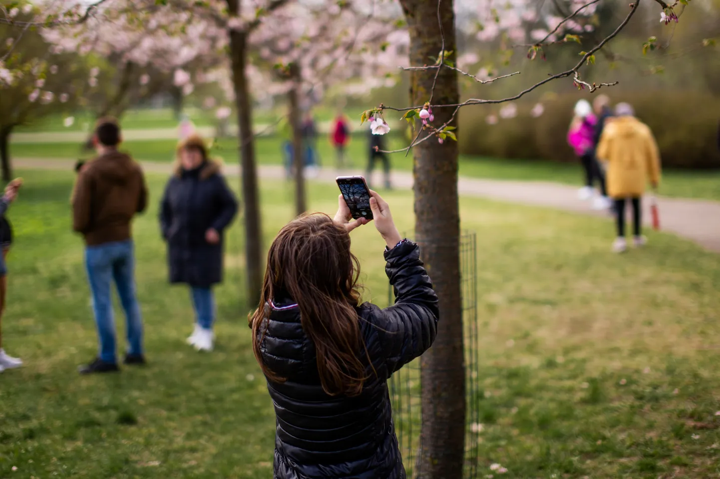
<instances>
[{"instance_id":1,"label":"thick foreground tree trunk right of the woman holding up a phone","mask_svg":"<svg viewBox=\"0 0 720 479\"><path fill-rule=\"evenodd\" d=\"M438 27L438 2L400 0L410 27L410 64L432 65L443 50ZM455 52L452 0L441 0L445 50ZM441 69L433 93L436 70L413 72L410 101L422 105L459 101L457 75ZM434 109L433 124L444 124L453 109ZM454 122L455 123L455 122ZM416 127L422 127L420 122ZM423 136L427 130L423 131ZM462 301L460 298L460 216L457 193L458 147L448 139L441 145L431 138L413 151L415 236L423 261L440 298L438 334L431 350L421 359L422 450L418 457L420 478L462 478L465 441L465 372Z\"/></svg>"}]
</instances>

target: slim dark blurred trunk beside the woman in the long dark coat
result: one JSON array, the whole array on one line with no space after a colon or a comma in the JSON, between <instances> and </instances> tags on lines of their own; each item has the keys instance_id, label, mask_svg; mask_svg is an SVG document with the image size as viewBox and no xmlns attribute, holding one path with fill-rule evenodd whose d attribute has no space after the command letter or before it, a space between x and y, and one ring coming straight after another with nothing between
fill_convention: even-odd
<instances>
[{"instance_id":1,"label":"slim dark blurred trunk beside the woman in the long dark coat","mask_svg":"<svg viewBox=\"0 0 720 479\"><path fill-rule=\"evenodd\" d=\"M230 5L230 3L228 3ZM235 10L236 11L236 10ZM235 106L238 109L240 141L240 186L245 208L245 256L247 264L248 305L258 304L262 284L262 238L260 201L258 199L258 173L255 165L255 140L250 91L246 76L248 36L246 32L230 31L230 60L232 60Z\"/></svg>"}]
</instances>

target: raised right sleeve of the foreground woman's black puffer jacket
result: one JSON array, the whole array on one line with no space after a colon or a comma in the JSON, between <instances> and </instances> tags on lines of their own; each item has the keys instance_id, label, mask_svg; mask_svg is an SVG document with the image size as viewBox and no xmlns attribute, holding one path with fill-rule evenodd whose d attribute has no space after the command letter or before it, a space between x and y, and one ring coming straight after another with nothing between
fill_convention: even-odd
<instances>
[{"instance_id":1,"label":"raised right sleeve of the foreground woman's black puffer jacket","mask_svg":"<svg viewBox=\"0 0 720 479\"><path fill-rule=\"evenodd\" d=\"M433 291L420 247L403 241L385 252L385 273L395 288L395 304L374 306L374 325L388 376L423 354L433 344L438 324L438 296Z\"/></svg>"}]
</instances>

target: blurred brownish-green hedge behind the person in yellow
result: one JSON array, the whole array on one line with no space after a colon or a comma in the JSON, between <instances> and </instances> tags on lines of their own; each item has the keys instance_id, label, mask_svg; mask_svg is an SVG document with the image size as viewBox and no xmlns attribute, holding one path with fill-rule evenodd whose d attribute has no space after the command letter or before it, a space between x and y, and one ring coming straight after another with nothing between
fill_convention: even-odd
<instances>
[{"instance_id":1,"label":"blurred brownish-green hedge behind the person in yellow","mask_svg":"<svg viewBox=\"0 0 720 479\"><path fill-rule=\"evenodd\" d=\"M564 94L540 101L544 113L538 118L530 114L536 102L519 102L518 114L512 119L500 118L499 106L468 106L460 113L460 152L496 158L577 161L565 140L567 128L575 102L583 97L592 101L593 95ZM720 98L704 93L654 91L618 93L611 99L613 104L627 101L634 106L636 116L657 138L664 166L720 168ZM490 114L498 116L498 124L487 124Z\"/></svg>"}]
</instances>

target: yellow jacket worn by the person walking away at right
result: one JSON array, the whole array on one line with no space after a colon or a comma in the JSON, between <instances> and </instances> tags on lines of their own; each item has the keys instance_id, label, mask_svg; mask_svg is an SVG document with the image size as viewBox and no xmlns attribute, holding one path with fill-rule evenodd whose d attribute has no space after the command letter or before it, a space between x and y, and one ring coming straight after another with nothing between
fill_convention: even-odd
<instances>
[{"instance_id":1,"label":"yellow jacket worn by the person walking away at right","mask_svg":"<svg viewBox=\"0 0 720 479\"><path fill-rule=\"evenodd\" d=\"M652 132L634 117L608 119L598 143L598 158L608 163L608 195L636 198L647 182L660 183L660 153Z\"/></svg>"}]
</instances>

